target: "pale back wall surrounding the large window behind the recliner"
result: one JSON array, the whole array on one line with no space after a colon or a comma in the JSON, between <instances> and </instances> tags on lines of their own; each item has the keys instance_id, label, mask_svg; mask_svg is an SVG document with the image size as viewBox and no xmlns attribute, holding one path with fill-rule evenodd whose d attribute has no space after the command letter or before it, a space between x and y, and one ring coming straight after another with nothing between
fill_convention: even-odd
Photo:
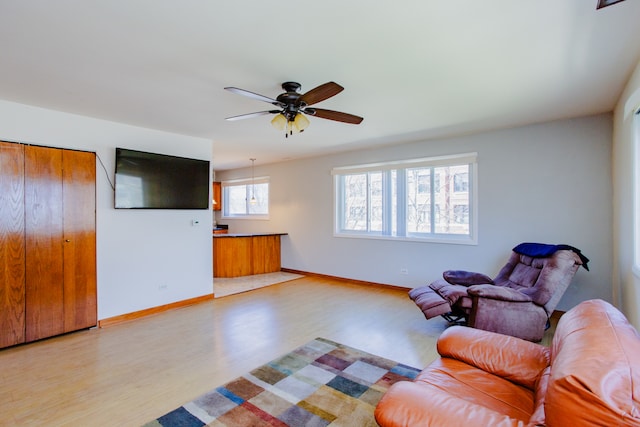
<instances>
[{"instance_id":1,"label":"pale back wall surrounding the large window behind the recliner","mask_svg":"<svg viewBox=\"0 0 640 427\"><path fill-rule=\"evenodd\" d=\"M611 301L611 135L607 114L273 165L258 159L256 176L271 177L270 219L218 222L231 232L288 232L283 267L406 287L428 284L451 268L493 276L520 242L566 243L591 259L591 271L578 271L558 309L591 298ZM472 151L478 153L477 246L333 236L333 167ZM250 176L246 168L218 172L216 180Z\"/></svg>"}]
</instances>

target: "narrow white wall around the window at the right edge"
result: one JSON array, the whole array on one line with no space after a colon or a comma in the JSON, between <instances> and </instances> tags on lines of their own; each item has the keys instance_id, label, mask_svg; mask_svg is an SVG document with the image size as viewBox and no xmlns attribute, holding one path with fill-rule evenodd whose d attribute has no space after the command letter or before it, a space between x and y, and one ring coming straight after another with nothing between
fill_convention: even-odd
<instances>
[{"instance_id":1,"label":"narrow white wall around the window at the right edge","mask_svg":"<svg viewBox=\"0 0 640 427\"><path fill-rule=\"evenodd\" d=\"M640 62L614 111L614 291L629 321L640 329L640 277L633 273L633 113L640 108ZM637 155L637 154L636 154ZM637 167L637 166L636 166Z\"/></svg>"}]
</instances>

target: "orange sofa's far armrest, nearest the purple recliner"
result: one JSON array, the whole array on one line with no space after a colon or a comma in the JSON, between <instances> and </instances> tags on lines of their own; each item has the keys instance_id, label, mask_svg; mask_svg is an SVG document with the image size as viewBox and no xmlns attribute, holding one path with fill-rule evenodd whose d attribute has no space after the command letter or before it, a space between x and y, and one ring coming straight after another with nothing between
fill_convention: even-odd
<instances>
[{"instance_id":1,"label":"orange sofa's far armrest, nearest the purple recliner","mask_svg":"<svg viewBox=\"0 0 640 427\"><path fill-rule=\"evenodd\" d=\"M438 339L442 357L460 360L530 390L549 366L549 349L508 335L451 326Z\"/></svg>"}]
</instances>

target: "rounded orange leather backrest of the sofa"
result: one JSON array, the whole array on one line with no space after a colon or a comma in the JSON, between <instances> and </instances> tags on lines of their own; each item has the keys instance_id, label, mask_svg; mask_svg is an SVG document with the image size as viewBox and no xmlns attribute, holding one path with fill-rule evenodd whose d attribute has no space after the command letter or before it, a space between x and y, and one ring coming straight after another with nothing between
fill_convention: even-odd
<instances>
[{"instance_id":1,"label":"rounded orange leather backrest of the sofa","mask_svg":"<svg viewBox=\"0 0 640 427\"><path fill-rule=\"evenodd\" d=\"M640 426L640 335L602 300L560 318L545 398L549 426Z\"/></svg>"}]
</instances>

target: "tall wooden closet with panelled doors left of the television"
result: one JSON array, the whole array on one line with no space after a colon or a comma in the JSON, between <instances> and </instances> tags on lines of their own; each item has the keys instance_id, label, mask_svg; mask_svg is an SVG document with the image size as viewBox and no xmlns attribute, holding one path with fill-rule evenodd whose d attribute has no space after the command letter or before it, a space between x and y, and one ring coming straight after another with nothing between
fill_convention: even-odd
<instances>
[{"instance_id":1,"label":"tall wooden closet with panelled doors left of the television","mask_svg":"<svg viewBox=\"0 0 640 427\"><path fill-rule=\"evenodd\" d=\"M2 142L0 164L0 347L96 325L95 154Z\"/></svg>"}]
</instances>

